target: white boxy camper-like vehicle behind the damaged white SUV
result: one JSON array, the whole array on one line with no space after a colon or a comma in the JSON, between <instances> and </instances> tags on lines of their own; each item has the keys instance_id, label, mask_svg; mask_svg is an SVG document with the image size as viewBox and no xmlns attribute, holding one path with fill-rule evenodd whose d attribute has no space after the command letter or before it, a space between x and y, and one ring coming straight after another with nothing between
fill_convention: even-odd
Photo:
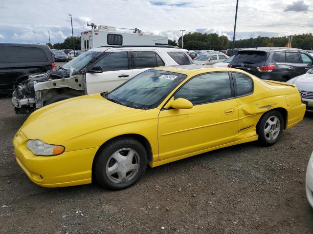
<instances>
[{"instance_id":1,"label":"white boxy camper-like vehicle behind the damaged white SUV","mask_svg":"<svg viewBox=\"0 0 313 234\"><path fill-rule=\"evenodd\" d=\"M81 49L87 51L100 46L121 45L167 45L168 37L144 34L134 28L115 28L112 26L87 23L91 30L81 32Z\"/></svg>"}]
</instances>

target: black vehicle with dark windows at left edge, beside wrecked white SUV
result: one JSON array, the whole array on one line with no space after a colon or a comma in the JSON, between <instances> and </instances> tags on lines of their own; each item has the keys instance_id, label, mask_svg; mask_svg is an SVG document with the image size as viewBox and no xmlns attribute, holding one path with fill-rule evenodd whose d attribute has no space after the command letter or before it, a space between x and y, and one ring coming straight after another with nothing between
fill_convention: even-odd
<instances>
[{"instance_id":1,"label":"black vehicle with dark windows at left edge, beside wrecked white SUV","mask_svg":"<svg viewBox=\"0 0 313 234\"><path fill-rule=\"evenodd\" d=\"M0 43L0 92L12 91L13 85L29 75L54 68L47 45Z\"/></svg>"}]
</instances>

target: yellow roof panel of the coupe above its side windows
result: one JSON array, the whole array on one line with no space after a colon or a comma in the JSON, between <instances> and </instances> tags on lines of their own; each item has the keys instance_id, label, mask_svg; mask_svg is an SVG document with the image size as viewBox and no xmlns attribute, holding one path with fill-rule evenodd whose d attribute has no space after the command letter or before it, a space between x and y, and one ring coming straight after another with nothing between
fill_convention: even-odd
<instances>
[{"instance_id":1,"label":"yellow roof panel of the coupe above its side windows","mask_svg":"<svg viewBox=\"0 0 313 234\"><path fill-rule=\"evenodd\" d=\"M169 72L176 72L185 75L194 75L206 72L221 72L221 71L239 71L243 72L242 70L228 68L228 67L214 67L208 65L177 65L177 66L163 66L163 67L156 67L153 68L156 70L162 71L169 71Z\"/></svg>"}]
</instances>

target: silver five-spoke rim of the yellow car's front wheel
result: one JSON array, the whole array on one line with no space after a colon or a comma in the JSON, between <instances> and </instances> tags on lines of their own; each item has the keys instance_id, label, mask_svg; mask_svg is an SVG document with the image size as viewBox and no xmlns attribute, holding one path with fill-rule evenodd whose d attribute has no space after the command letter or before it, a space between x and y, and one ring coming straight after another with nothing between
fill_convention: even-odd
<instances>
[{"instance_id":1,"label":"silver five-spoke rim of the yellow car's front wheel","mask_svg":"<svg viewBox=\"0 0 313 234\"><path fill-rule=\"evenodd\" d=\"M106 174L113 183L125 183L130 181L138 173L140 157L136 151L123 148L115 151L106 165Z\"/></svg>"}]
</instances>

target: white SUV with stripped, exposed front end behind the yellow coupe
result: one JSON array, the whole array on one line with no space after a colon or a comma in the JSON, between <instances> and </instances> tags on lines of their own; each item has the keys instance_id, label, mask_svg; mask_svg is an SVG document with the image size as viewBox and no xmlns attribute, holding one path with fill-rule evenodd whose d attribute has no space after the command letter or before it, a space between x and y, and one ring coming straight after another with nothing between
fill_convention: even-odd
<instances>
[{"instance_id":1,"label":"white SUV with stripped, exposed front end behind the yellow coupe","mask_svg":"<svg viewBox=\"0 0 313 234\"><path fill-rule=\"evenodd\" d=\"M189 64L186 50L176 46L99 47L16 85L12 103L17 114L27 114L67 98L111 91L151 67Z\"/></svg>"}]
</instances>

